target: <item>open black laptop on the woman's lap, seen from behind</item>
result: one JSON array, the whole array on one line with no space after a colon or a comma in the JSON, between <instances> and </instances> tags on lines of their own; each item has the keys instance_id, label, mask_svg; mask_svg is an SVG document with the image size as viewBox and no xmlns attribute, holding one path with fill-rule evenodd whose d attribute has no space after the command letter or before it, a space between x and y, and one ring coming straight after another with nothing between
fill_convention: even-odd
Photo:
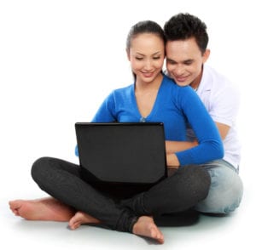
<instances>
[{"instance_id":1,"label":"open black laptop on the woman's lap, seen from behind","mask_svg":"<svg viewBox=\"0 0 256 250\"><path fill-rule=\"evenodd\" d=\"M167 176L161 122L77 122L84 179L103 185L149 188Z\"/></svg>"}]
</instances>

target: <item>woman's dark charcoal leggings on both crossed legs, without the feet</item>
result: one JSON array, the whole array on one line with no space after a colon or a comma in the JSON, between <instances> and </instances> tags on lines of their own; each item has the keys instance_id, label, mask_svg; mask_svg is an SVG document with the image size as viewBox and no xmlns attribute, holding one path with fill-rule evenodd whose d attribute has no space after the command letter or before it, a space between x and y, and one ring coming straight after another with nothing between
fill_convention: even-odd
<instances>
[{"instance_id":1,"label":"woman's dark charcoal leggings on both crossed legs, without the feet","mask_svg":"<svg viewBox=\"0 0 256 250\"><path fill-rule=\"evenodd\" d=\"M56 158L42 157L32 165L32 178L50 196L90 214L112 230L127 232L132 232L139 216L194 207L207 197L211 184L209 174L200 166L178 168L171 177L136 195L130 189L90 185L82 176L78 165Z\"/></svg>"}]
</instances>

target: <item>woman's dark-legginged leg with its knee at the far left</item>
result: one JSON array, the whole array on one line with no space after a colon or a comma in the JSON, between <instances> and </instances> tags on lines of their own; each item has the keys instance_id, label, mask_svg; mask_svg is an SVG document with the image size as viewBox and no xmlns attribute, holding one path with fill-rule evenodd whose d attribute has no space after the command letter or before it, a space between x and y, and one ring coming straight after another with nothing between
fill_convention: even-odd
<instances>
[{"instance_id":1,"label":"woman's dark-legginged leg with its knee at the far left","mask_svg":"<svg viewBox=\"0 0 256 250\"><path fill-rule=\"evenodd\" d=\"M56 200L77 211L88 213L113 230L132 232L137 216L127 207L119 207L80 177L79 166L60 159L43 157L34 162L32 178Z\"/></svg>"}]
</instances>

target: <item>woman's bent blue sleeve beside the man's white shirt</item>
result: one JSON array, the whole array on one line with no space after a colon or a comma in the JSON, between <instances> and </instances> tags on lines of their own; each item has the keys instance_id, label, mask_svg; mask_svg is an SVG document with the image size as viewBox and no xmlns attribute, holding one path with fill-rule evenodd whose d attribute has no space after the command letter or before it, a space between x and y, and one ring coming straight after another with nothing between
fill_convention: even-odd
<instances>
[{"instance_id":1,"label":"woman's bent blue sleeve beside the man's white shirt","mask_svg":"<svg viewBox=\"0 0 256 250\"><path fill-rule=\"evenodd\" d=\"M199 143L192 149L176 153L181 166L223 158L224 147L218 128L195 91L190 87L180 88L177 101Z\"/></svg>"}]
</instances>

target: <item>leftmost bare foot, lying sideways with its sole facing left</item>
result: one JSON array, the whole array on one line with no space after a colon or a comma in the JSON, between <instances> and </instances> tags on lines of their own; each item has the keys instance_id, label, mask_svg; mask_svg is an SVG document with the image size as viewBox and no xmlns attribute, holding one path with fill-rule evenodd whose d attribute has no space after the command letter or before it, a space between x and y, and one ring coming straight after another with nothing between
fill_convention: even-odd
<instances>
[{"instance_id":1,"label":"leftmost bare foot, lying sideways with its sole facing left","mask_svg":"<svg viewBox=\"0 0 256 250\"><path fill-rule=\"evenodd\" d=\"M10 201L9 207L16 216L28 220L69 221L75 214L72 207L52 197Z\"/></svg>"}]
</instances>

